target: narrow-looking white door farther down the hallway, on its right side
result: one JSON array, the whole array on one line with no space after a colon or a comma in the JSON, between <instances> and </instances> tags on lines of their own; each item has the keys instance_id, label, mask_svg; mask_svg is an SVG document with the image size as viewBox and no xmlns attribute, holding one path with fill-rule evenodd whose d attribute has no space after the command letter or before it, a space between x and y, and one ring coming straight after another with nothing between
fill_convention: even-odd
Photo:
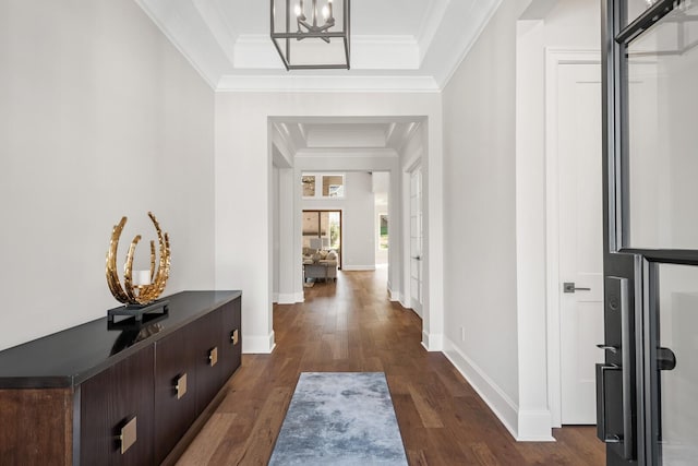
<instances>
[{"instance_id":1,"label":"narrow-looking white door farther down the hallway, on its right side","mask_svg":"<svg viewBox=\"0 0 698 466\"><path fill-rule=\"evenodd\" d=\"M410 303L422 314L422 169L410 174Z\"/></svg>"}]
</instances>

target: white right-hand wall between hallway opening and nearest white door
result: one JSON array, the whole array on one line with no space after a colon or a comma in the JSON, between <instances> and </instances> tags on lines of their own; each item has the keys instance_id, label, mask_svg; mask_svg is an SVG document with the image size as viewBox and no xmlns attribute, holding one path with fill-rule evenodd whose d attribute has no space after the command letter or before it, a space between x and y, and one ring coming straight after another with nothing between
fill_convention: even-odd
<instances>
[{"instance_id":1,"label":"white right-hand wall between hallway opening and nearest white door","mask_svg":"<svg viewBox=\"0 0 698 466\"><path fill-rule=\"evenodd\" d=\"M517 23L529 3L502 3L444 92L444 326L446 354L512 433L552 440L545 47L598 49L600 21L595 1L534 0Z\"/></svg>"}]
</instances>

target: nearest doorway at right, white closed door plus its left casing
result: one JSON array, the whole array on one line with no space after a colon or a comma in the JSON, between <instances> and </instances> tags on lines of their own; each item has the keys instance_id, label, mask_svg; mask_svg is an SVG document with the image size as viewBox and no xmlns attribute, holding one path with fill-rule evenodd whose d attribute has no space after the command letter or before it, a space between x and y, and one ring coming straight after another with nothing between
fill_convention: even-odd
<instances>
[{"instance_id":1,"label":"nearest doorway at right, white closed door plus its left casing","mask_svg":"<svg viewBox=\"0 0 698 466\"><path fill-rule=\"evenodd\" d=\"M549 390L553 426L597 422L603 360L601 67L598 51L546 56Z\"/></svg>"}]
</instances>

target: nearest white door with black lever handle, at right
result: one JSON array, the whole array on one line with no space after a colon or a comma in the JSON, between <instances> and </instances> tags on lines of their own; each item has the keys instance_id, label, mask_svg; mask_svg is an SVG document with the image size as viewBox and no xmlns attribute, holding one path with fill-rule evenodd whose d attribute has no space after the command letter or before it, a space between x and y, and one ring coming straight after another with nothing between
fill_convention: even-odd
<instances>
[{"instance_id":1,"label":"nearest white door with black lever handle, at right","mask_svg":"<svg viewBox=\"0 0 698 466\"><path fill-rule=\"evenodd\" d=\"M604 340L601 67L561 63L557 77L561 421L593 425Z\"/></svg>"}]
</instances>

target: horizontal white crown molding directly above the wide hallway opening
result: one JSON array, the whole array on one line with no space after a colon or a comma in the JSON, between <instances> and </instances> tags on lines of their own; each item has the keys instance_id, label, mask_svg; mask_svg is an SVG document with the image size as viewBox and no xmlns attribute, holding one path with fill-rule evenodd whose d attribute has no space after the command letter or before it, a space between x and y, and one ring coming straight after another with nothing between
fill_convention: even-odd
<instances>
[{"instance_id":1,"label":"horizontal white crown molding directly above the wide hallway opening","mask_svg":"<svg viewBox=\"0 0 698 466\"><path fill-rule=\"evenodd\" d=\"M236 75L218 82L218 92L381 92L437 93L432 76Z\"/></svg>"}]
</instances>

